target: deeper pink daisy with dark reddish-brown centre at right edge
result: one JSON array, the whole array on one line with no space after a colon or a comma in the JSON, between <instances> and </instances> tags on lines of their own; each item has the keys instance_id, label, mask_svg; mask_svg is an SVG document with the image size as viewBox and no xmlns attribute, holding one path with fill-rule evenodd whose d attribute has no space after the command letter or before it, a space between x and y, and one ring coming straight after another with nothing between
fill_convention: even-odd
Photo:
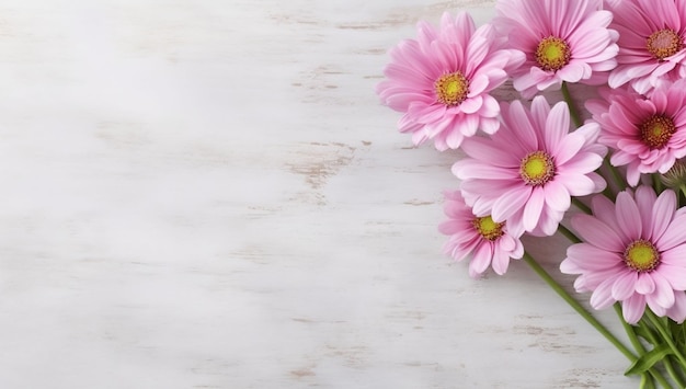
<instances>
[{"instance_id":1,"label":"deeper pink daisy with dark reddish-brown centre at right edge","mask_svg":"<svg viewBox=\"0 0 686 389\"><path fill-rule=\"evenodd\" d=\"M627 165L627 181L641 173L666 173L686 157L686 80L653 90L650 99L631 90L603 92L586 108L601 125L598 141L614 149L610 163Z\"/></svg>"}]
</instances>

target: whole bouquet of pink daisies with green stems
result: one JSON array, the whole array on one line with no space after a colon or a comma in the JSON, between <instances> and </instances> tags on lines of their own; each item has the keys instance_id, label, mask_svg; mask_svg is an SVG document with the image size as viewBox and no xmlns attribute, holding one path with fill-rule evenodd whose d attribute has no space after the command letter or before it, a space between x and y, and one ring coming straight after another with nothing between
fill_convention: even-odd
<instances>
[{"instance_id":1,"label":"whole bouquet of pink daisies with green stems","mask_svg":"<svg viewBox=\"0 0 686 389\"><path fill-rule=\"evenodd\" d=\"M523 259L645 388L686 387L685 39L686 0L499 0L480 27L467 13L420 22L377 87L415 145L466 155L445 194L445 251L472 277ZM522 99L499 102L508 80ZM593 94L585 112L568 84ZM615 307L633 350L521 240L556 232L570 241L560 271L594 309Z\"/></svg>"}]
</instances>

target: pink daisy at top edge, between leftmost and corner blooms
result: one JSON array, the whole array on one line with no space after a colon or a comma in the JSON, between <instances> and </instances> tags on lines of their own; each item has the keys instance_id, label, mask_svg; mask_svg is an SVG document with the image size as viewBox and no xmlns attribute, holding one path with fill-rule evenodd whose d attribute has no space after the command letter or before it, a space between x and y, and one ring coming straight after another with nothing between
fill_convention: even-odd
<instances>
[{"instance_id":1,"label":"pink daisy at top edge, between leftmost and corner blooms","mask_svg":"<svg viewBox=\"0 0 686 389\"><path fill-rule=\"evenodd\" d=\"M599 84L615 68L617 32L603 0L501 0L494 25L526 61L512 72L525 98L562 81Z\"/></svg>"}]
</instances>

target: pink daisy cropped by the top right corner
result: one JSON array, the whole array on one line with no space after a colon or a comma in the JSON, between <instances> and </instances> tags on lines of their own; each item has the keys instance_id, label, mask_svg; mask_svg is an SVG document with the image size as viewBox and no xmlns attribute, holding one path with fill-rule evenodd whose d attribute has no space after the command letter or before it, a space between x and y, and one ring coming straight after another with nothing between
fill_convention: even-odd
<instances>
[{"instance_id":1,"label":"pink daisy cropped by the top right corner","mask_svg":"<svg viewBox=\"0 0 686 389\"><path fill-rule=\"evenodd\" d=\"M617 68L609 85L631 82L647 93L663 82L686 77L686 0L607 0L619 32Z\"/></svg>"}]
</instances>

